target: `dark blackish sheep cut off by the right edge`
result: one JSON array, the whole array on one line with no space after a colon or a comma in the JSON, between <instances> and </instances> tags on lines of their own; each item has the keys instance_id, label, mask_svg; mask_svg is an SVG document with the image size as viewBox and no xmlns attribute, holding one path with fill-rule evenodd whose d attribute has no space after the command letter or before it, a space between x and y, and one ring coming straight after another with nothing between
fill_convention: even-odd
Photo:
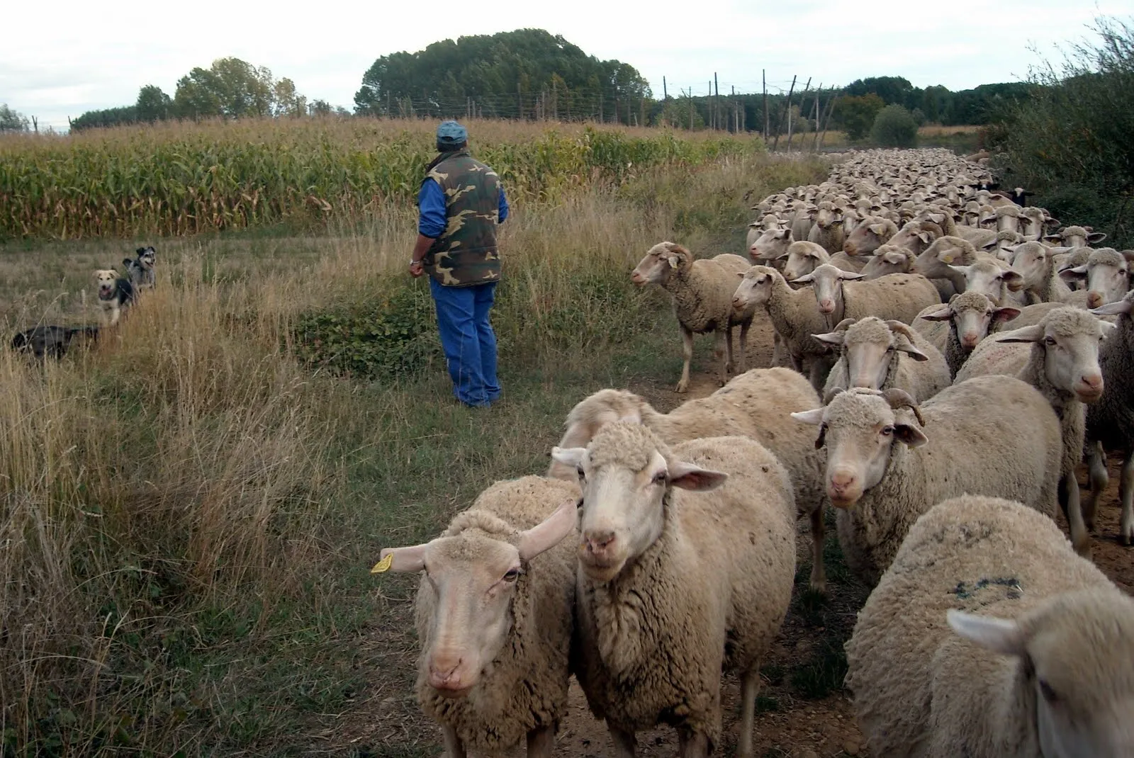
<instances>
[{"instance_id":1,"label":"dark blackish sheep cut off by the right edge","mask_svg":"<svg viewBox=\"0 0 1134 758\"><path fill-rule=\"evenodd\" d=\"M1134 292L1117 303L1095 308L1095 315L1118 316L1118 324L1099 349L1099 367L1106 390L1098 402L1086 407L1086 450L1091 489L1083 504L1083 517L1088 526L1094 526L1095 503L1107 488L1107 460L1101 448L1123 453L1123 471L1118 482L1118 500L1122 502L1122 519L1118 539L1124 545L1134 543L1134 324L1131 321L1134 308Z\"/></svg>"}]
</instances>

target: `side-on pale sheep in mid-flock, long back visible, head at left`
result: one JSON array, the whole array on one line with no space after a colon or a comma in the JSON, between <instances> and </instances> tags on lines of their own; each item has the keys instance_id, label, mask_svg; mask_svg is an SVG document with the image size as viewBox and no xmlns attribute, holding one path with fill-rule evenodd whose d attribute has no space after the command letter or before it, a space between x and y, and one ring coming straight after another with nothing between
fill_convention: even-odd
<instances>
[{"instance_id":1,"label":"side-on pale sheep in mid-flock, long back visible, head at left","mask_svg":"<svg viewBox=\"0 0 1134 758\"><path fill-rule=\"evenodd\" d=\"M796 279L794 283L814 282L819 312L827 317L829 324L865 316L894 318L908 324L922 308L941 301L933 284L919 274L890 274L865 282L848 281L862 278L862 274L839 271L827 264Z\"/></svg>"}]
</instances>

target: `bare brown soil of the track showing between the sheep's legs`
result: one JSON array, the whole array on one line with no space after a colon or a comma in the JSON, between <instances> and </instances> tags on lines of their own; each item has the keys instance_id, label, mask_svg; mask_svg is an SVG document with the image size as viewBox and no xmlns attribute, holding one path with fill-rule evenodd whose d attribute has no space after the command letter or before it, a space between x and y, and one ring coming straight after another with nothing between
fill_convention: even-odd
<instances>
[{"instance_id":1,"label":"bare brown soil of the track showing between the sheep's legs","mask_svg":"<svg viewBox=\"0 0 1134 758\"><path fill-rule=\"evenodd\" d=\"M675 342L677 342L676 337ZM769 366L771 347L769 324L765 321L758 321L750 333L748 367ZM675 349L678 349L676 344ZM672 392L677 376L670 377L672 382L650 382L631 389L648 397L660 410L669 410L685 400L704 397L717 389L713 367L705 365L702 368L709 371L702 371L692 377L687 394L679 395ZM1122 546L1117 539L1119 518L1117 483L1122 461L1111 458L1108 462L1111 482L1100 500L1093 559L1119 587L1132 591L1134 548ZM1085 469L1081 471L1080 480L1085 486ZM1061 518L1059 526L1067 533L1067 526ZM865 602L868 589L845 569L840 571L837 563L837 540L832 531L832 529L828 531L827 561L830 591L829 597L822 599L802 591L806 588L806 571L810 567L809 536L806 526L802 521L797 528L801 570L797 572L795 597L775 649L761 666L763 681L761 697L758 700L755 727L755 755L761 758L870 755L865 739L855 724L849 695L841 689L839 656L836 653L849 637L855 614ZM830 560L832 550L835 561ZM404 605L409 605L411 602L412 597L406 598ZM411 615L400 614L406 621ZM383 642L375 637L365 645L378 648ZM390 656L387 659L392 662L395 658L400 658L400 665L412 667L415 653L406 650L405 655ZM831 675L838 676L837 685L826 687L822 681L812 681L815 678L822 680ZM403 672L403 676L412 679L412 672ZM363 706L365 710L358 709L344 715L341 730L329 740L335 746L331 752L347 748L355 756L441 755L439 747L430 749L425 747L424 741L418 741L421 738L414 739L416 735L426 734L431 726L422 723L424 719L413 705L412 692L408 690L391 692L390 680L382 673L376 673L372 678L372 683L381 693L359 693L358 700L366 702ZM830 692L823 693L824 689ZM816 695L822 697L814 697ZM728 674L723 679L722 700L725 733L717 755L729 756L734 755L736 747L739 704L739 684L735 674ZM413 723L407 723L407 719L412 719ZM435 731L433 733L437 736L430 742L437 744L440 735ZM406 736L405 752L391 752L386 747L391 744L389 740L396 734ZM671 729L641 732L637 735L637 755L646 758L677 755L677 739ZM516 755L523 756L523 750ZM569 715L561 725L555 755L558 758L613 758L615 756L604 725L590 714L582 691L574 681Z\"/></svg>"}]
</instances>

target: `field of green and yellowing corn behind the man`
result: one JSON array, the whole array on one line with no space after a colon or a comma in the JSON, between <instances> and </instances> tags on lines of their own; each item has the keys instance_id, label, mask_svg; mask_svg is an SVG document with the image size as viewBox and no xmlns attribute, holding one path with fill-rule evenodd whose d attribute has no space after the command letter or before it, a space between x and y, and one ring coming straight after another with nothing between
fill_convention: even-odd
<instances>
[{"instance_id":1,"label":"field of green and yellowing corn behind the man","mask_svg":"<svg viewBox=\"0 0 1134 758\"><path fill-rule=\"evenodd\" d=\"M243 120L0 138L0 238L316 228L411 203L435 155L430 121ZM559 202L638 170L761 151L754 139L475 121L473 154L511 199Z\"/></svg>"}]
</instances>

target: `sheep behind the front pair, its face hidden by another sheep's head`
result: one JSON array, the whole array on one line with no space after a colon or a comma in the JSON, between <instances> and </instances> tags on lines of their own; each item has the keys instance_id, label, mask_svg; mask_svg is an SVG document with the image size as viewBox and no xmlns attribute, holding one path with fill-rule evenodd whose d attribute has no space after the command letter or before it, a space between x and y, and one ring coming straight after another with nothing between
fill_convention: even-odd
<instances>
[{"instance_id":1,"label":"sheep behind the front pair, its face hidden by another sheep's head","mask_svg":"<svg viewBox=\"0 0 1134 758\"><path fill-rule=\"evenodd\" d=\"M600 390L567 415L560 448L583 448L607 424L634 421L651 428L666 444L697 437L745 436L770 450L787 469L799 513L811 525L811 581L827 591L823 571L823 484L821 460L812 436L794 424L792 411L819 404L805 377L789 368L753 368L733 378L708 398L687 400L659 414L644 398L625 390ZM548 476L575 482L575 469L551 462Z\"/></svg>"}]
</instances>

